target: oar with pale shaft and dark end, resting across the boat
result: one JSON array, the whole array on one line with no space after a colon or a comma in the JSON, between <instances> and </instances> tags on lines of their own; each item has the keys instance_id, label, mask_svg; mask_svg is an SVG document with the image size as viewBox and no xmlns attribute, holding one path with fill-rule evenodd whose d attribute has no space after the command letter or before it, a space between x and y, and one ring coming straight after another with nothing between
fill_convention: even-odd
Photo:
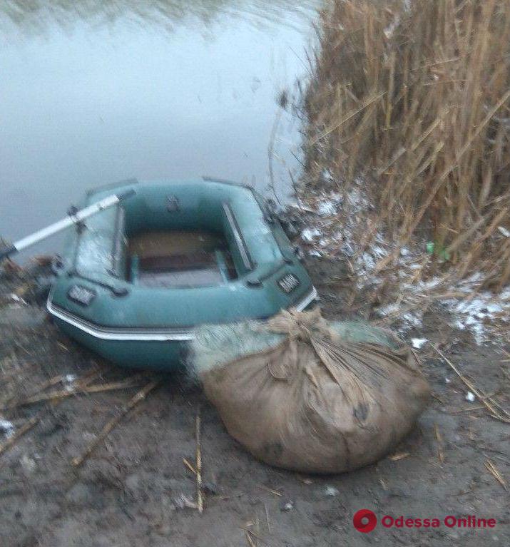
<instances>
[{"instance_id":1,"label":"oar with pale shaft and dark end, resting across the boat","mask_svg":"<svg viewBox=\"0 0 510 547\"><path fill-rule=\"evenodd\" d=\"M124 192L122 194L108 195L108 198L103 198L102 200L93 203L92 205L88 205L88 207L78 210L76 211L76 213L72 213L68 215L68 217L63 218L62 220L58 220L58 222L51 224L48 227L43 228L42 230L39 230L39 232L27 235L26 237L19 241L16 241L6 249L0 250L0 262L4 260L4 258L15 255L16 252L20 252L27 247L31 247L32 245L39 243L39 241L45 240L46 237L50 237L57 232L61 232L62 230L69 228L69 226L72 226L73 224L81 223L86 218L91 217L92 215L96 215L96 213L100 213L101 211L108 209L113 205L116 205L117 203L120 203L121 201L126 200L126 198L130 198L135 193L135 190L128 190L127 192Z\"/></svg>"}]
</instances>

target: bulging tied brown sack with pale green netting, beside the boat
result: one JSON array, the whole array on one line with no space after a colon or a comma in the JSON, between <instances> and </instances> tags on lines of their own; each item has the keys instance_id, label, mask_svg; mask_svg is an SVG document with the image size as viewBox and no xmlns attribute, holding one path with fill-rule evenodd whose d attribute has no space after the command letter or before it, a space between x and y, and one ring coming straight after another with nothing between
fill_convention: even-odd
<instances>
[{"instance_id":1,"label":"bulging tied brown sack with pale green netting, beside the boat","mask_svg":"<svg viewBox=\"0 0 510 547\"><path fill-rule=\"evenodd\" d=\"M228 432L257 459L307 473L372 464L429 399L414 353L382 329L282 312L202 327L195 369Z\"/></svg>"}]
</instances>

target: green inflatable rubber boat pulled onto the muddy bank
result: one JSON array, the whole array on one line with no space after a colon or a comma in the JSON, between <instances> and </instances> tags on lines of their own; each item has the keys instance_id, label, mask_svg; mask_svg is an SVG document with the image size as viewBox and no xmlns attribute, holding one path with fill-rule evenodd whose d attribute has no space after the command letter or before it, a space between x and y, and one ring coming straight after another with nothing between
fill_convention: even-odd
<instances>
[{"instance_id":1,"label":"green inflatable rubber boat pulled onto the muddy bank","mask_svg":"<svg viewBox=\"0 0 510 547\"><path fill-rule=\"evenodd\" d=\"M317 292L280 223L247 186L204 178L99 188L123 199L78 228L47 307L63 332L117 364L171 370L194 327L304 310Z\"/></svg>"}]
</instances>

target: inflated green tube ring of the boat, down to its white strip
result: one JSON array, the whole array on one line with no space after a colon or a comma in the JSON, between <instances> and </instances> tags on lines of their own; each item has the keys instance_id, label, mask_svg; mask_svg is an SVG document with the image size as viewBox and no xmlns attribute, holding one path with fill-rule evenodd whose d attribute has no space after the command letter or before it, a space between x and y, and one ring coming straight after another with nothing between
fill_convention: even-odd
<instances>
[{"instance_id":1,"label":"inflated green tube ring of the boat, down to its white strip","mask_svg":"<svg viewBox=\"0 0 510 547\"><path fill-rule=\"evenodd\" d=\"M89 193L87 200L101 199L106 191L111 188ZM95 339L165 342L191 339L199 324L263 320L282 309L304 310L317 291L280 224L256 198L250 188L215 180L137 184L136 195L126 201L126 215L111 211L89 227L101 235L99 242L91 242L86 233L71 238L48 298L49 313ZM230 238L238 279L171 288L128 282L121 236L130 230L158 230L163 222L167 228L174 223L170 229L176 230L216 222L216 229ZM87 254L99 257L96 269L84 260Z\"/></svg>"}]
</instances>

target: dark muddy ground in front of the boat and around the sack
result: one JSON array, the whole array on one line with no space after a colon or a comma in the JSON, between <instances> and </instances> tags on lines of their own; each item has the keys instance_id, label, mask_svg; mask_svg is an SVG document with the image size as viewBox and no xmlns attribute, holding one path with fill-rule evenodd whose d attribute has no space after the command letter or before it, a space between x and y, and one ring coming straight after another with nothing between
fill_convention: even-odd
<instances>
[{"instance_id":1,"label":"dark muddy ground in front of the boat and around the sack","mask_svg":"<svg viewBox=\"0 0 510 547\"><path fill-rule=\"evenodd\" d=\"M308 258L327 317L367 317L352 310L347 270L340 262ZM332 281L334 280L334 282ZM9 302L24 279L2 280L1 397L23 399L61 375L83 377L100 369L98 383L133 387L78 394L56 407L48 402L3 411L18 428L40 421L0 456L0 543L60 546L479 546L508 545L508 493L486 468L509 476L509 429L489 417L466 387L425 346L420 355L434 398L396 453L377 465L337 476L301 476L255 461L226 433L200 388L177 374L114 429L83 466L73 468L103 424L116 416L148 378L101 362L48 322L37 291ZM44 291L43 291L44 292ZM12 299L11 299L12 300ZM425 317L419 332L486 392L508 407L509 377L502 347L476 346L441 317ZM506 347L506 350L509 350ZM506 367L504 369L503 367ZM205 511L186 507L195 498L195 411L202 407ZM2 436L4 441L6 436ZM379 516L495 518L496 527L377 528L355 531L352 515L371 508Z\"/></svg>"}]
</instances>

